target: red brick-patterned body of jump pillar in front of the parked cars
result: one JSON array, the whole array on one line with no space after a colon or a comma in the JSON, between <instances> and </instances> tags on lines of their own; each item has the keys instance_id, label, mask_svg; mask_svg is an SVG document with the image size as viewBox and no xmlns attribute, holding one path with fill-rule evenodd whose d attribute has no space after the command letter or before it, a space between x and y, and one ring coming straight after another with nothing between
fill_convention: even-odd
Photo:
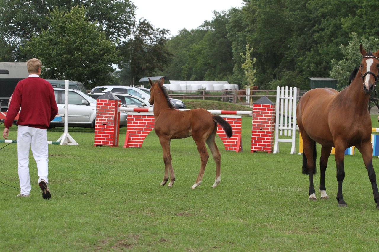
<instances>
[{"instance_id":1,"label":"red brick-patterned body of jump pillar in front of the parked cars","mask_svg":"<svg viewBox=\"0 0 379 252\"><path fill-rule=\"evenodd\" d=\"M118 146L120 116L118 100L98 99L96 102L94 146Z\"/></svg>"}]
</instances>

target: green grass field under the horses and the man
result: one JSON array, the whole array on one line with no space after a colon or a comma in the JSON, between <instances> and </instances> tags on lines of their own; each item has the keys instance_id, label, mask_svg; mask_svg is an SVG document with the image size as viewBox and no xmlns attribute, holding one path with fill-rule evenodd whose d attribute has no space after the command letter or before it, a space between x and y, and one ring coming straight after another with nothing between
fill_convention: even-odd
<instances>
[{"instance_id":1,"label":"green grass field under the horses and the man","mask_svg":"<svg viewBox=\"0 0 379 252\"><path fill-rule=\"evenodd\" d=\"M376 116L373 127L379 127ZM9 139L16 139L16 128ZM17 198L19 190L0 184L0 251L377 250L379 210L359 152L345 156L349 206L339 208L333 155L326 171L330 198L320 200L316 192L318 201L308 201L302 157L291 155L288 143L275 155L250 153L249 117L243 118L243 152L226 152L216 139L222 179L214 189L212 158L202 185L191 189L200 167L191 138L171 142L176 181L169 188L160 186L164 165L155 133L142 148L122 148L126 129L120 131L120 147L94 147L94 130L77 128L69 133L78 146L50 145L50 201L41 197L32 155L30 198ZM56 128L48 138L62 134ZM0 181L18 187L17 145L0 155ZM377 157L373 164L379 174Z\"/></svg>"}]
</instances>

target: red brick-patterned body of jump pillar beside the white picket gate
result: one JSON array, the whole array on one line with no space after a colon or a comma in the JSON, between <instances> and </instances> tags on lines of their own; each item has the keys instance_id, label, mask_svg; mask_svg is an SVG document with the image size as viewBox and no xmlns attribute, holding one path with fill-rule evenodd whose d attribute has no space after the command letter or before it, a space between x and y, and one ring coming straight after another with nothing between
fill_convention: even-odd
<instances>
[{"instance_id":1,"label":"red brick-patterned body of jump pillar beside the white picket gate","mask_svg":"<svg viewBox=\"0 0 379 252\"><path fill-rule=\"evenodd\" d=\"M274 151L275 105L253 104L251 152Z\"/></svg>"}]
</instances>

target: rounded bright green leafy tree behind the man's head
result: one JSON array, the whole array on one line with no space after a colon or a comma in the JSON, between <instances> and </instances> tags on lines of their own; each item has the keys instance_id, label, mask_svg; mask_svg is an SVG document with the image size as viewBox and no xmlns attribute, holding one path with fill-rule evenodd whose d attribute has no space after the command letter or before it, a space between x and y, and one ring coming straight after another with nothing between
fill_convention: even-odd
<instances>
[{"instance_id":1,"label":"rounded bright green leafy tree behind the man's head","mask_svg":"<svg viewBox=\"0 0 379 252\"><path fill-rule=\"evenodd\" d=\"M119 61L116 46L89 22L85 8L55 9L48 20L49 27L21 48L28 58L42 61L42 77L76 80L87 88L111 83L112 64Z\"/></svg>"}]
</instances>

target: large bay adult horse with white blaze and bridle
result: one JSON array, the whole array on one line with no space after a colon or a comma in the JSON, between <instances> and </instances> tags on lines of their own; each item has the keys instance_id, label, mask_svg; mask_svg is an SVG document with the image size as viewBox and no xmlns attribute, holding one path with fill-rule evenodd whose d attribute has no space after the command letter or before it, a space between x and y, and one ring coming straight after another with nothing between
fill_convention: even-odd
<instances>
[{"instance_id":1,"label":"large bay adult horse with white blaze and bridle","mask_svg":"<svg viewBox=\"0 0 379 252\"><path fill-rule=\"evenodd\" d=\"M345 178L345 149L351 146L362 153L379 209L379 193L373 168L371 145L371 117L368 112L370 93L375 88L379 68L379 50L366 52L360 45L362 62L350 76L350 85L338 92L332 88L315 88L299 100L296 118L303 138L302 171L309 175L309 199L316 200L313 175L316 173L316 142L321 144L320 187L321 199L329 198L325 188L325 171L332 147L337 166L338 206L347 206L342 195Z\"/></svg>"}]
</instances>

